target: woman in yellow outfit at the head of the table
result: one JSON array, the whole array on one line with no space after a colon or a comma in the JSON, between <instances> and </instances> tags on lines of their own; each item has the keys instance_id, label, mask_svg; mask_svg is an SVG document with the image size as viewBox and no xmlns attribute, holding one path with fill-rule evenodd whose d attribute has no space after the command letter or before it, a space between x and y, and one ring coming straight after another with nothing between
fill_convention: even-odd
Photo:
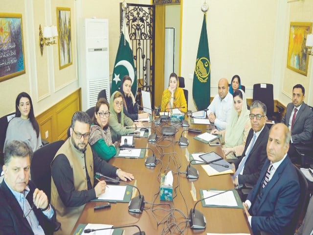
<instances>
[{"instance_id":1,"label":"woman in yellow outfit at the head of the table","mask_svg":"<svg viewBox=\"0 0 313 235\"><path fill-rule=\"evenodd\" d=\"M170 74L168 89L164 90L162 94L161 112L172 112L174 108L179 108L181 113L187 112L187 102L184 91L179 87L177 74L172 72Z\"/></svg>"}]
</instances>

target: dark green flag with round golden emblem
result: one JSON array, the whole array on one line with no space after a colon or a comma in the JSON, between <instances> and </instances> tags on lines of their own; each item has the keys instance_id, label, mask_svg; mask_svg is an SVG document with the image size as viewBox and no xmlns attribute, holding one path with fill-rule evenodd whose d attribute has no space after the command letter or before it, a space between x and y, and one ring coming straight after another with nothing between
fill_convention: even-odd
<instances>
[{"instance_id":1,"label":"dark green flag with round golden emblem","mask_svg":"<svg viewBox=\"0 0 313 235\"><path fill-rule=\"evenodd\" d=\"M192 96L197 110L206 109L210 104L210 71L211 65L206 32L206 14L204 14L192 84Z\"/></svg>"}]
</instances>

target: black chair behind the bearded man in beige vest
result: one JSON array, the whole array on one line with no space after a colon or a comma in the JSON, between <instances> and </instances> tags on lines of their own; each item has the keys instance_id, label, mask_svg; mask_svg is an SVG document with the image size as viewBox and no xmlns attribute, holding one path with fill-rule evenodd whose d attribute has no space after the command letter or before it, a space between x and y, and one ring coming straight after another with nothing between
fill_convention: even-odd
<instances>
[{"instance_id":1,"label":"black chair behind the bearded man in beige vest","mask_svg":"<svg viewBox=\"0 0 313 235\"><path fill-rule=\"evenodd\" d=\"M34 152L33 159L31 160L30 175L31 180L35 183L37 188L43 190L51 200L51 167L50 164L64 143L63 140L48 143ZM61 223L55 222L54 232L58 231ZM52 234L52 233L51 233Z\"/></svg>"}]
</instances>

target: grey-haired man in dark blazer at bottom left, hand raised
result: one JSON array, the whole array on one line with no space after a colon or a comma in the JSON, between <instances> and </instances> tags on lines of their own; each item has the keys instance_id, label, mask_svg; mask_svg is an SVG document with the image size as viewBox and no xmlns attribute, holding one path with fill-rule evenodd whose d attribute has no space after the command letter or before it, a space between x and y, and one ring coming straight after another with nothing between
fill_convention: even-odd
<instances>
[{"instance_id":1,"label":"grey-haired man in dark blazer at bottom left, hand raised","mask_svg":"<svg viewBox=\"0 0 313 235\"><path fill-rule=\"evenodd\" d=\"M32 149L25 142L11 141L4 151L0 234L44 235L53 231L56 213L45 192L29 180Z\"/></svg>"}]
</instances>

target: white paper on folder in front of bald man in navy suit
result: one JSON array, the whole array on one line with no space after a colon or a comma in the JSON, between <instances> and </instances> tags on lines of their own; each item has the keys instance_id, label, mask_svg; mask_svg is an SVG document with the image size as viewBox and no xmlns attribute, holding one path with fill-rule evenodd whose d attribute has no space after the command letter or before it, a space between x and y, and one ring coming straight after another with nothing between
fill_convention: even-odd
<instances>
[{"instance_id":1,"label":"white paper on folder in front of bald man in navy suit","mask_svg":"<svg viewBox=\"0 0 313 235\"><path fill-rule=\"evenodd\" d=\"M202 190L203 198L216 195L220 192L218 190ZM204 200L206 205L215 205L215 206L227 206L227 207L238 207L235 195L233 191L224 192L215 197L207 198Z\"/></svg>"}]
</instances>

